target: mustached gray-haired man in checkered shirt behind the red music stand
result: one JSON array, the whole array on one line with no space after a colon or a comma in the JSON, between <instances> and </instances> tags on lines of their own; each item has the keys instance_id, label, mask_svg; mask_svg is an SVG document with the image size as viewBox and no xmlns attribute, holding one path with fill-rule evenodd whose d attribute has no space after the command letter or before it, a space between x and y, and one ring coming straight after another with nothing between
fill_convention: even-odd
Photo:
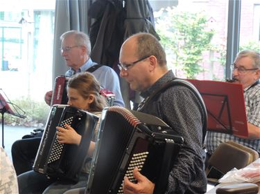
<instances>
[{"instance_id":1,"label":"mustached gray-haired man in checkered shirt behind the red music stand","mask_svg":"<svg viewBox=\"0 0 260 194\"><path fill-rule=\"evenodd\" d=\"M234 83L242 84L245 110L248 120L248 138L225 133L207 132L206 148L210 157L222 142L233 141L248 146L260 154L260 54L254 50L242 50L232 65ZM239 106L239 104L238 104Z\"/></svg>"}]
</instances>

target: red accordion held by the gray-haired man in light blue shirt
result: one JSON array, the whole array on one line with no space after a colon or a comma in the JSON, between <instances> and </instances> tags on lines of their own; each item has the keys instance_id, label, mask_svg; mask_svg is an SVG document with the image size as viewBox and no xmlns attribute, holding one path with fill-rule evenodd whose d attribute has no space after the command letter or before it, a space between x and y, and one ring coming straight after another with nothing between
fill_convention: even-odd
<instances>
[{"instance_id":1,"label":"red accordion held by the gray-haired man in light blue shirt","mask_svg":"<svg viewBox=\"0 0 260 194\"><path fill-rule=\"evenodd\" d=\"M68 81L69 77L64 75L60 75L55 78L53 95L51 96L51 106L53 106L54 104L67 104L69 100L67 97ZM105 97L109 106L114 105L114 93L112 93L110 90L107 90L106 88L102 88L100 94L103 95L103 97Z\"/></svg>"}]
</instances>

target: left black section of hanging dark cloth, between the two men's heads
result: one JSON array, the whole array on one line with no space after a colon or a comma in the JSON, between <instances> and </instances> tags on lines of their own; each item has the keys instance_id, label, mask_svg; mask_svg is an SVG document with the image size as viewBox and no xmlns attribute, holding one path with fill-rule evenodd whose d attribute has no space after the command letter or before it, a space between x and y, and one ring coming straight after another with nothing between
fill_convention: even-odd
<instances>
[{"instance_id":1,"label":"left black section of hanging dark cloth, between the two men's heads","mask_svg":"<svg viewBox=\"0 0 260 194\"><path fill-rule=\"evenodd\" d=\"M98 0L89 9L89 17L95 19L89 30L92 60L113 68L123 43L123 1Z\"/></svg>"}]
</instances>

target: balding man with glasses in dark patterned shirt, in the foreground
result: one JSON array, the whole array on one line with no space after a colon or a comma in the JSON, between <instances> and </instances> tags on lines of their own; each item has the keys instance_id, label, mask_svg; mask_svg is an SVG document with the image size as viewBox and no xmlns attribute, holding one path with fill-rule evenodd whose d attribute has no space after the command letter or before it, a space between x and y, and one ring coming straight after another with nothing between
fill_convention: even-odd
<instances>
[{"instance_id":1,"label":"balding man with glasses in dark patterned shirt, in the foreground","mask_svg":"<svg viewBox=\"0 0 260 194\"><path fill-rule=\"evenodd\" d=\"M173 167L170 169L167 186L161 193L205 193L207 180L204 171L202 131L202 106L194 93L185 86L169 86L176 79L172 70L168 70L166 54L159 41L148 33L138 33L125 40L119 56L120 76L130 84L132 90L141 92L144 101L139 104L139 111L155 115L171 127L173 134L184 139ZM150 100L148 100L150 99ZM162 168L165 168L163 166ZM137 183L124 178L124 194L152 194L157 192L157 185L135 168L133 176Z\"/></svg>"}]
</instances>

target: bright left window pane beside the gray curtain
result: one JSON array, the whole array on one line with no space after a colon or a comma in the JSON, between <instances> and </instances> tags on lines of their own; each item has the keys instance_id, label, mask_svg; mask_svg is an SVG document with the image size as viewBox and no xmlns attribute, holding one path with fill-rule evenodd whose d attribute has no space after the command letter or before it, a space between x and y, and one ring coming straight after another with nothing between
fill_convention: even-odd
<instances>
[{"instance_id":1,"label":"bright left window pane beside the gray curtain","mask_svg":"<svg viewBox=\"0 0 260 194\"><path fill-rule=\"evenodd\" d=\"M5 124L45 124L49 106L44 94L52 84L54 12L55 0L1 1L0 88L27 116L5 114Z\"/></svg>"}]
</instances>

